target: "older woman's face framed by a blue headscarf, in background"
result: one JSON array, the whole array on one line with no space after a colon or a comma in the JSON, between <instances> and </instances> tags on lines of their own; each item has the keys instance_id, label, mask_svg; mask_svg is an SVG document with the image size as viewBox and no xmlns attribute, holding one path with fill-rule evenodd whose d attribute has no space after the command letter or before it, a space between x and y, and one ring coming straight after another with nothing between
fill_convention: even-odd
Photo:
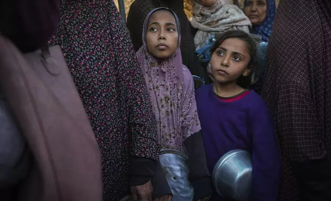
<instances>
[{"instance_id":1,"label":"older woman's face framed by a blue headscarf, in background","mask_svg":"<svg viewBox=\"0 0 331 201\"><path fill-rule=\"evenodd\" d=\"M266 17L267 0L247 0L244 12L252 25L260 25Z\"/></svg>"}]
</instances>

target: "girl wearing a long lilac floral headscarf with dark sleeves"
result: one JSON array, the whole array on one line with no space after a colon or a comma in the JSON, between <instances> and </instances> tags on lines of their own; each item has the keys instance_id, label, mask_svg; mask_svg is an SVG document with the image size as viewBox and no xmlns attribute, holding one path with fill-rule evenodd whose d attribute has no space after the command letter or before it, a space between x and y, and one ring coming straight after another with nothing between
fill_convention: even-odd
<instances>
[{"instance_id":1,"label":"girl wearing a long lilac floral headscarf with dark sleeves","mask_svg":"<svg viewBox=\"0 0 331 201\"><path fill-rule=\"evenodd\" d=\"M150 92L161 149L182 151L194 158L194 163L189 159L194 200L204 200L211 194L211 182L193 77L181 60L176 14L167 8L152 10L144 21L142 41L137 57Z\"/></svg>"}]
</instances>

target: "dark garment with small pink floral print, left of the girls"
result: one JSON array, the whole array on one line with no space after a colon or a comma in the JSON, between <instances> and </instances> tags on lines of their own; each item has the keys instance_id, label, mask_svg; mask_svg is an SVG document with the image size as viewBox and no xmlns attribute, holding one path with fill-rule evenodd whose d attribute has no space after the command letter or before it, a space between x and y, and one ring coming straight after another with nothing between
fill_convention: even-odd
<instances>
[{"instance_id":1,"label":"dark garment with small pink floral print, left of the girls","mask_svg":"<svg viewBox=\"0 0 331 201\"><path fill-rule=\"evenodd\" d=\"M113 1L63 0L50 45L61 46L95 132L104 200L119 200L127 193L128 155L157 160L159 151L130 35Z\"/></svg>"}]
</instances>

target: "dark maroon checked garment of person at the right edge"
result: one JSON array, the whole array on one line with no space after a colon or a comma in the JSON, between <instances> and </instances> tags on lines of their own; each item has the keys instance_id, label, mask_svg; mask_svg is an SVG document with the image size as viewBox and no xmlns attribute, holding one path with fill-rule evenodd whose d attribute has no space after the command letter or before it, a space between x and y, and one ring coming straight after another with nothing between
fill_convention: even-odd
<instances>
[{"instance_id":1,"label":"dark maroon checked garment of person at the right edge","mask_svg":"<svg viewBox=\"0 0 331 201\"><path fill-rule=\"evenodd\" d=\"M330 200L306 192L331 180L331 1L280 2L262 95L281 151L280 200ZM324 187L331 192L329 184Z\"/></svg>"}]
</instances>

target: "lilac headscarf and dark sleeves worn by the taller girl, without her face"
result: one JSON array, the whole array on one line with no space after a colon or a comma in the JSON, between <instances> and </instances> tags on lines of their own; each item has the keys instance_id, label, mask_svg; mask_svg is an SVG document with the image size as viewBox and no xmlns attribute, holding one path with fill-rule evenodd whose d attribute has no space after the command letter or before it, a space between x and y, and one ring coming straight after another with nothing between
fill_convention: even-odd
<instances>
[{"instance_id":1,"label":"lilac headscarf and dark sleeves worn by the taller girl, without her face","mask_svg":"<svg viewBox=\"0 0 331 201\"><path fill-rule=\"evenodd\" d=\"M160 9L168 10L174 15L179 36L174 55L167 59L155 58L148 52L146 45L149 19ZM193 200L208 197L212 188L200 133L193 77L188 68L182 64L179 49L180 23L176 14L167 8L152 10L144 21L142 41L143 46L138 50L137 58L152 100L161 149L174 149L188 155L191 171L189 179L194 188ZM163 174L162 168L159 167L152 180L153 190L157 191L157 194L171 194Z\"/></svg>"}]
</instances>

